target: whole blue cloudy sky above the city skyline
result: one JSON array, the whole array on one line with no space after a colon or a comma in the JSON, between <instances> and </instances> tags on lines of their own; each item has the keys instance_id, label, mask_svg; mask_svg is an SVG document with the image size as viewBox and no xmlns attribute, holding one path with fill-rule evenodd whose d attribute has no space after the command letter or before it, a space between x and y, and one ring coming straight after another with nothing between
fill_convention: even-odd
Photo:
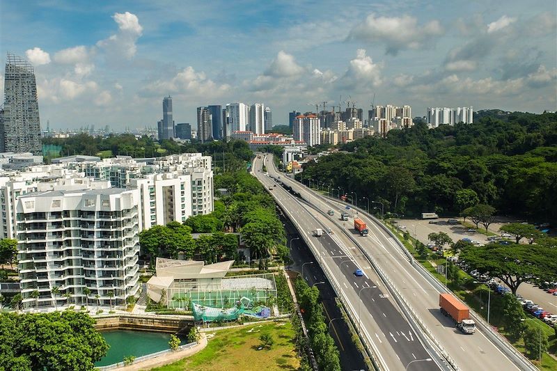
<instances>
[{"instance_id":1,"label":"whole blue cloudy sky above the city skyline","mask_svg":"<svg viewBox=\"0 0 557 371\"><path fill-rule=\"evenodd\" d=\"M317 102L557 109L554 0L0 0L7 52L51 129L156 127L166 95L175 123L230 102L275 125Z\"/></svg>"}]
</instances>

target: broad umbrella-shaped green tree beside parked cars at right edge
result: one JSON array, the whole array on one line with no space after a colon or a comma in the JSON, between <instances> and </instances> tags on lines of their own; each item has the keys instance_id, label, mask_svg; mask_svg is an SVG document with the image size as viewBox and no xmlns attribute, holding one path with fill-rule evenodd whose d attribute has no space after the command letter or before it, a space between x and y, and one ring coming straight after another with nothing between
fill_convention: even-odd
<instances>
[{"instance_id":1,"label":"broad umbrella-shaped green tree beside parked cars at right edge","mask_svg":"<svg viewBox=\"0 0 557 371\"><path fill-rule=\"evenodd\" d=\"M512 294L531 276L544 281L557 278L557 249L545 246L535 249L522 244L471 246L460 253L460 259L481 274L499 278Z\"/></svg>"}]
</instances>

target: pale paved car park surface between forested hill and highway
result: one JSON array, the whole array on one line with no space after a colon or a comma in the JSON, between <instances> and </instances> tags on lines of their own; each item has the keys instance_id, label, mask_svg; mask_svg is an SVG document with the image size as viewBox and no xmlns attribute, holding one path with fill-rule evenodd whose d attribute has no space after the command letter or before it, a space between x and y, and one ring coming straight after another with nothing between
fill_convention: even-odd
<instances>
[{"instance_id":1,"label":"pale paved car park surface between forested hill and highway","mask_svg":"<svg viewBox=\"0 0 557 371\"><path fill-rule=\"evenodd\" d=\"M462 218L458 219L462 221ZM462 224L449 224L447 223L447 218L434 219L437 223L430 223L430 220L421 219L397 219L398 226L406 227L401 228L401 230L407 230L410 235L418 241L426 244L429 242L427 240L427 235L432 232L445 232L453 242L459 239L469 238L474 241L480 242L480 244L487 244L487 236L478 232L468 232L468 228L462 226ZM489 228L491 230L491 228ZM499 280L496 280L499 281ZM501 283L504 285L504 283ZM524 297L524 299L530 299L534 303L540 304L545 310L550 313L557 313L557 296L548 294L538 287L535 287L529 283L521 283L517 294Z\"/></svg>"}]
</instances>

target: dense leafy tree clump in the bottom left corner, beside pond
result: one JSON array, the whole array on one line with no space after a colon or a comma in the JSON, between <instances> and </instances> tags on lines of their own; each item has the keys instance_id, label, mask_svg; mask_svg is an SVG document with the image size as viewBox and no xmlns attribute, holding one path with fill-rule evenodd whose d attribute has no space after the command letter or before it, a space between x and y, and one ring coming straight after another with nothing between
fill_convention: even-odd
<instances>
[{"instance_id":1,"label":"dense leafy tree clump in the bottom left corner, beside pond","mask_svg":"<svg viewBox=\"0 0 557 371\"><path fill-rule=\"evenodd\" d=\"M82 313L0 314L1 370L93 370L109 349Z\"/></svg>"}]
</instances>

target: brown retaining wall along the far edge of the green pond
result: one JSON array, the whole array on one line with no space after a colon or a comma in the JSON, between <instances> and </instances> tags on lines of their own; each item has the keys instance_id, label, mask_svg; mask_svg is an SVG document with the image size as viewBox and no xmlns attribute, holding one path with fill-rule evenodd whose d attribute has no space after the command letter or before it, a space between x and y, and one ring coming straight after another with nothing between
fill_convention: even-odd
<instances>
[{"instance_id":1,"label":"brown retaining wall along the far edge of the green pond","mask_svg":"<svg viewBox=\"0 0 557 371\"><path fill-rule=\"evenodd\" d=\"M134 331L159 331L176 333L178 331L187 333L194 325L194 317L189 315L152 317L141 315L108 315L95 317L97 323L95 329L107 330L134 330Z\"/></svg>"}]
</instances>

